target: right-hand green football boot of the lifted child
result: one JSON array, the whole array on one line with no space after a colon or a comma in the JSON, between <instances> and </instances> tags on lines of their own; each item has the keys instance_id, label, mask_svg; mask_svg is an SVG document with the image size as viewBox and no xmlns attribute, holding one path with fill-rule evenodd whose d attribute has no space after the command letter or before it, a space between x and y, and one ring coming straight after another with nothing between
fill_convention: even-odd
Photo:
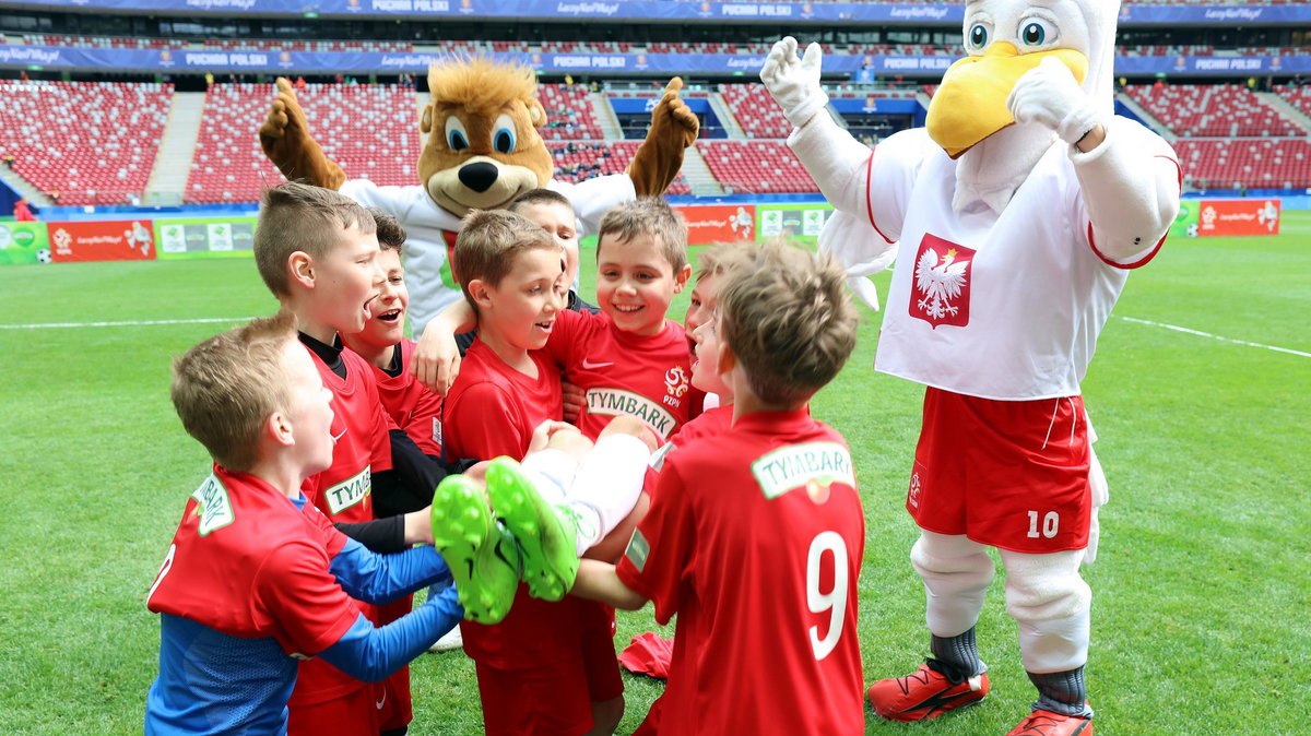
<instances>
[{"instance_id":1,"label":"right-hand green football boot of the lifted child","mask_svg":"<svg viewBox=\"0 0 1311 736\"><path fill-rule=\"evenodd\" d=\"M547 503L509 457L493 460L486 477L492 508L519 541L528 593L545 601L565 597L578 575L572 515Z\"/></svg>"}]
</instances>

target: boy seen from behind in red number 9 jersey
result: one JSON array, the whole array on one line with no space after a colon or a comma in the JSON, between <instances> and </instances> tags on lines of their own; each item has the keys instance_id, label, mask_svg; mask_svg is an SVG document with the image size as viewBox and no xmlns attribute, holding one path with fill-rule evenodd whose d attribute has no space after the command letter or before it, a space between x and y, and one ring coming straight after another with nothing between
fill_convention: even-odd
<instances>
[{"instance_id":1,"label":"boy seen from behind in red number 9 jersey","mask_svg":"<svg viewBox=\"0 0 1311 736\"><path fill-rule=\"evenodd\" d=\"M808 407L856 342L842 268L764 245L718 309L733 430L665 460L619 566L582 561L572 592L678 614L662 735L863 733L864 516L846 443Z\"/></svg>"}]
</instances>

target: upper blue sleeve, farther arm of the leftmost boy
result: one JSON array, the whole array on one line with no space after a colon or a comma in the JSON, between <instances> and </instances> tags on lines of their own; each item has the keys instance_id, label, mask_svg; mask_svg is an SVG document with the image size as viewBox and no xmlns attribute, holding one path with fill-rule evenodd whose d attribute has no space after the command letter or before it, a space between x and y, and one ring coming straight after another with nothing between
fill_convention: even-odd
<instances>
[{"instance_id":1,"label":"upper blue sleeve, farther arm of the leftmost boy","mask_svg":"<svg viewBox=\"0 0 1311 736\"><path fill-rule=\"evenodd\" d=\"M451 568L429 546L376 554L347 540L328 570L350 597L367 604L388 604L420 588L451 581Z\"/></svg>"}]
</instances>

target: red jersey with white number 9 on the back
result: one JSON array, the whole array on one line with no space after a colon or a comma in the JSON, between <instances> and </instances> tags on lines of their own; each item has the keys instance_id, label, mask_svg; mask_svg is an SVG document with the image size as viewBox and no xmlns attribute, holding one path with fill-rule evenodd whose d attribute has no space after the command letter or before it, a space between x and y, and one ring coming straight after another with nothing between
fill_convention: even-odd
<instances>
[{"instance_id":1,"label":"red jersey with white number 9 on the back","mask_svg":"<svg viewBox=\"0 0 1311 736\"><path fill-rule=\"evenodd\" d=\"M864 733L864 546L847 444L805 409L670 453L617 567L678 614L661 732Z\"/></svg>"}]
</instances>

